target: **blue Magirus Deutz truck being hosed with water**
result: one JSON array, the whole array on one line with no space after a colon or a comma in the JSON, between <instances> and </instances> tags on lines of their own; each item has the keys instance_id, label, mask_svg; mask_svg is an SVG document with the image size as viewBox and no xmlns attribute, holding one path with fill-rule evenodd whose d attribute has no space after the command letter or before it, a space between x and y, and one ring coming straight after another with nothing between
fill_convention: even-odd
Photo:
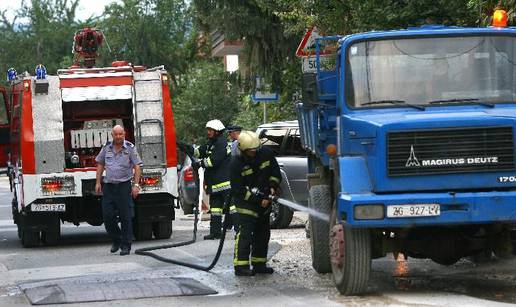
<instances>
[{"instance_id":1,"label":"blue Magirus Deutz truck being hosed with water","mask_svg":"<svg viewBox=\"0 0 516 307\"><path fill-rule=\"evenodd\" d=\"M312 264L367 291L387 253L451 265L516 251L516 28L422 26L318 38L296 104ZM334 43L335 56L322 50ZM333 61L333 62L332 62Z\"/></svg>"}]
</instances>

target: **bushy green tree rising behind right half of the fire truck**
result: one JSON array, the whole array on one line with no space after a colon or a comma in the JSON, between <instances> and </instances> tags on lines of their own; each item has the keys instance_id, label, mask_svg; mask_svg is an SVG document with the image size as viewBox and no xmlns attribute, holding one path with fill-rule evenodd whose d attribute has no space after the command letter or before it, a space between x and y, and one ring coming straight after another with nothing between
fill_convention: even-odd
<instances>
[{"instance_id":1,"label":"bushy green tree rising behind right half of the fire truck","mask_svg":"<svg viewBox=\"0 0 516 307\"><path fill-rule=\"evenodd\" d=\"M164 65L175 90L197 55L197 33L184 0L113 3L106 7L99 26L113 51L112 58L147 67Z\"/></svg>"}]
</instances>

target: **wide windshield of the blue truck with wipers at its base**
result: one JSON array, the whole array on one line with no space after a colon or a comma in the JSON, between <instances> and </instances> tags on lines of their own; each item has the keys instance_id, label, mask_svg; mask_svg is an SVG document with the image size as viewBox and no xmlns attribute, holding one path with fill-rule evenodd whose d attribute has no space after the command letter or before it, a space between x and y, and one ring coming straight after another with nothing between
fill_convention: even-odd
<instances>
[{"instance_id":1,"label":"wide windshield of the blue truck with wipers at its base","mask_svg":"<svg viewBox=\"0 0 516 307\"><path fill-rule=\"evenodd\" d=\"M347 51L351 107L516 100L516 38L470 36L356 43Z\"/></svg>"}]
</instances>

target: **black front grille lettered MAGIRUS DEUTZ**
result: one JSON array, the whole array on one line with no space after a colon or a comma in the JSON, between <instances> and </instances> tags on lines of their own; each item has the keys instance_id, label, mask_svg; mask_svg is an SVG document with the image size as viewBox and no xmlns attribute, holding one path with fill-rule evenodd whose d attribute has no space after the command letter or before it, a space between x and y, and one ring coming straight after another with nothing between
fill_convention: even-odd
<instances>
[{"instance_id":1,"label":"black front grille lettered MAGIRUS DEUTZ","mask_svg":"<svg viewBox=\"0 0 516 307\"><path fill-rule=\"evenodd\" d=\"M396 131L387 135L389 176L514 169L512 127Z\"/></svg>"}]
</instances>

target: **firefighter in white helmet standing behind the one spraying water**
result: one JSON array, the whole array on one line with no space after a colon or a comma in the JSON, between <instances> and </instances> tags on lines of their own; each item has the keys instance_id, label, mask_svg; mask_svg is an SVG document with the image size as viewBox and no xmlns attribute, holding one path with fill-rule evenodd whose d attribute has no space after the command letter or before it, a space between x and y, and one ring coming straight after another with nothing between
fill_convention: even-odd
<instances>
[{"instance_id":1,"label":"firefighter in white helmet standing behind the one spraying water","mask_svg":"<svg viewBox=\"0 0 516 307\"><path fill-rule=\"evenodd\" d=\"M229 163L231 151L228 150L226 138L222 135L224 124L218 119L206 123L208 143L194 149L194 156L200 160L192 166L203 167L206 193L210 195L210 234L205 240L220 239L224 203L229 201Z\"/></svg>"}]
</instances>

